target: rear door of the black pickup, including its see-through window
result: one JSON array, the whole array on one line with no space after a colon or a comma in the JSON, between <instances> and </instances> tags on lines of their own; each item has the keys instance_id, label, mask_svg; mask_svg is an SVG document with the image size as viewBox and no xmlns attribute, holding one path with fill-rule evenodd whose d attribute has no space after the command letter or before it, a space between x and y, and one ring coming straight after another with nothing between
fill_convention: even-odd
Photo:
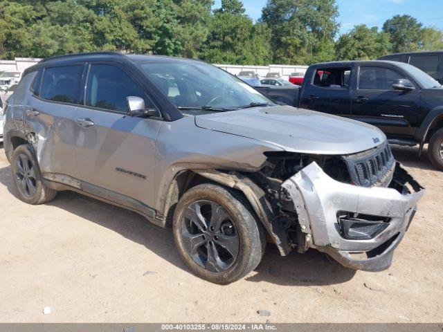
<instances>
[{"instance_id":1,"label":"rear door of the black pickup, including its see-through window","mask_svg":"<svg viewBox=\"0 0 443 332\"><path fill-rule=\"evenodd\" d=\"M337 116L350 116L351 67L316 68L313 77L305 76L300 107Z\"/></svg>"}]
</instances>

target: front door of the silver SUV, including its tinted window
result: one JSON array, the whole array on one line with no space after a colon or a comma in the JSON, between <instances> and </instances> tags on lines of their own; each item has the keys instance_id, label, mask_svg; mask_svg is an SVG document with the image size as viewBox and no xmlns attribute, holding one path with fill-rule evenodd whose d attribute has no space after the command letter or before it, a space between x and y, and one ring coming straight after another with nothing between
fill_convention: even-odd
<instances>
[{"instance_id":1,"label":"front door of the silver SUV, including its tinted window","mask_svg":"<svg viewBox=\"0 0 443 332\"><path fill-rule=\"evenodd\" d=\"M84 105L75 115L78 169L87 191L111 194L118 203L132 198L152 206L156 136L163 121L127 116L128 96L141 97L145 107L155 108L125 68L89 64Z\"/></svg>"}]
</instances>

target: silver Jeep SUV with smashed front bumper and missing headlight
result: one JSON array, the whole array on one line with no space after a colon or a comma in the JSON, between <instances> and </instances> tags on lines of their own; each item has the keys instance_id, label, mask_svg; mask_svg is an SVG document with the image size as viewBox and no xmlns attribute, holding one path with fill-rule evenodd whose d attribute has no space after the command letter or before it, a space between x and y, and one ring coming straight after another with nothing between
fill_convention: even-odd
<instances>
[{"instance_id":1,"label":"silver Jeep SUV with smashed front bumper and missing headlight","mask_svg":"<svg viewBox=\"0 0 443 332\"><path fill-rule=\"evenodd\" d=\"M250 273L266 242L386 269L424 193L379 129L280 106L190 59L46 59L9 98L4 134L21 200L73 190L138 212L219 284Z\"/></svg>"}]
</instances>

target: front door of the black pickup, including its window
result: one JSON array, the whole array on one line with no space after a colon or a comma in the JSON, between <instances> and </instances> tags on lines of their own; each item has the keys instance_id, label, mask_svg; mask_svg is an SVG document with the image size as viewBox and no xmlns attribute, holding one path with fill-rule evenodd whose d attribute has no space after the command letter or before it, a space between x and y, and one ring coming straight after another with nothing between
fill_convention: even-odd
<instances>
[{"instance_id":1,"label":"front door of the black pickup, including its window","mask_svg":"<svg viewBox=\"0 0 443 332\"><path fill-rule=\"evenodd\" d=\"M352 118L373 124L388 136L412 136L415 128L410 123L419 116L419 86L408 92L393 89L392 84L401 78L413 82L394 67L359 66L352 91Z\"/></svg>"}]
</instances>

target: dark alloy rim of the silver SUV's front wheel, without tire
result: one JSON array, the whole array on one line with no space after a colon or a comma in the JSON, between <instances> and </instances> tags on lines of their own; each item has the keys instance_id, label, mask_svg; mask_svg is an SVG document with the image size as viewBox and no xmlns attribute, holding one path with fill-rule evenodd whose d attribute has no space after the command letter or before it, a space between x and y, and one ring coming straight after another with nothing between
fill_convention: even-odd
<instances>
[{"instance_id":1,"label":"dark alloy rim of the silver SUV's front wheel, without tire","mask_svg":"<svg viewBox=\"0 0 443 332\"><path fill-rule=\"evenodd\" d=\"M195 263L212 272L227 270L239 255L235 223L213 201L196 201L188 206L181 219L181 239Z\"/></svg>"}]
</instances>

